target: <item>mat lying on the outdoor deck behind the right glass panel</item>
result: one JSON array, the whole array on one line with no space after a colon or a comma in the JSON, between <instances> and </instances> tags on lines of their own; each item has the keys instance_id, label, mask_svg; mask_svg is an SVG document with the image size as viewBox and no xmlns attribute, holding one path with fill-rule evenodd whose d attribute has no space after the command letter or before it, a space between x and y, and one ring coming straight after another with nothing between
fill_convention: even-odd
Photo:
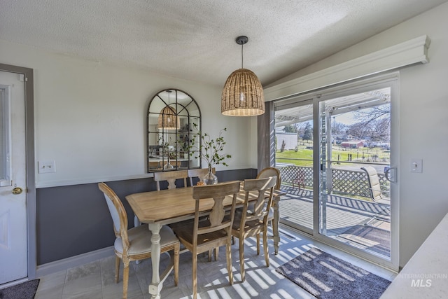
<instances>
[{"instance_id":1,"label":"mat lying on the outdoor deck behind the right glass panel","mask_svg":"<svg viewBox=\"0 0 448 299\"><path fill-rule=\"evenodd\" d=\"M339 237L348 239L371 251L391 256L391 223L373 220L366 224L354 225Z\"/></svg>"}]
</instances>

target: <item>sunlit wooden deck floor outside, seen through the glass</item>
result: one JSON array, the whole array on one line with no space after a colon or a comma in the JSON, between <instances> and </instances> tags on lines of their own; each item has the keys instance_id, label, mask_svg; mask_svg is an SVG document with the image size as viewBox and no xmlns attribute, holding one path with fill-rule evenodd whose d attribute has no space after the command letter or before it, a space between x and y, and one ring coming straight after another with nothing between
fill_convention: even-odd
<instances>
[{"instance_id":1,"label":"sunlit wooden deck floor outside, seen through the glass","mask_svg":"<svg viewBox=\"0 0 448 299\"><path fill-rule=\"evenodd\" d=\"M300 226L313 228L313 192L311 190L299 190L290 186L281 188L287 194L281 197L279 203L280 222L296 228ZM328 237L335 237L342 242L349 242L344 235L351 228L369 225L370 227L383 230L390 235L391 208L388 204L377 204L367 200L358 200L339 195L328 195L327 214L326 214L326 234ZM374 223L374 224L373 224ZM365 235L366 242L377 241L368 235ZM383 236L384 237L384 236ZM359 238L359 237L358 237ZM364 242L362 242L363 244ZM381 245L381 253L390 250L390 240L386 242L386 251L384 244ZM365 243L364 243L365 244ZM377 244L377 243L375 243ZM360 244L356 244L360 246ZM379 244L378 244L379 246ZM363 248L363 246L361 246ZM367 248L368 246L364 246ZM378 252L378 251L377 251ZM390 254L390 253L389 253ZM386 253L386 255L389 255Z\"/></svg>"}]
</instances>

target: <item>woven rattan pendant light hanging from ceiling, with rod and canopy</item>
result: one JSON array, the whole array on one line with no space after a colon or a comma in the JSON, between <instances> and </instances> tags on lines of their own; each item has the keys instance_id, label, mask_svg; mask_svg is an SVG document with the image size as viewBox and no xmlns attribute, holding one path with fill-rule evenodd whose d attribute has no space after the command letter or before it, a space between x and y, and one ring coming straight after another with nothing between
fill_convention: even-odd
<instances>
[{"instance_id":1,"label":"woven rattan pendant light hanging from ceiling, with rod and canopy","mask_svg":"<svg viewBox=\"0 0 448 299\"><path fill-rule=\"evenodd\" d=\"M241 45L241 69L225 81L221 95L221 113L225 116L259 116L265 113L265 97L260 80L253 71L243 68L243 45L247 36L238 36Z\"/></svg>"}]
</instances>

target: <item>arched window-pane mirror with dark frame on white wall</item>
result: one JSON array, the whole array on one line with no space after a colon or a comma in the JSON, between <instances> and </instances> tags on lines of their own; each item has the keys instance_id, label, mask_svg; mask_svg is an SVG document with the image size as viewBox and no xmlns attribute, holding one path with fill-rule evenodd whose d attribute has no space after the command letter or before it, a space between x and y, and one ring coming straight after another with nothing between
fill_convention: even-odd
<instances>
[{"instance_id":1,"label":"arched window-pane mirror with dark frame on white wall","mask_svg":"<svg viewBox=\"0 0 448 299\"><path fill-rule=\"evenodd\" d=\"M194 125L195 124L195 125ZM200 142L201 111L182 90L162 90L148 106L148 172L201 167L193 151Z\"/></svg>"}]
</instances>

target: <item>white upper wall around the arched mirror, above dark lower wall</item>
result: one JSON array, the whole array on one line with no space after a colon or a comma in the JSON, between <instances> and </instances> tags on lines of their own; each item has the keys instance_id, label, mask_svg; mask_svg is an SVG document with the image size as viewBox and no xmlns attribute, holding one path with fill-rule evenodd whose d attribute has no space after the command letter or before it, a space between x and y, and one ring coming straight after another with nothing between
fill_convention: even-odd
<instances>
[{"instance_id":1,"label":"white upper wall around the arched mirror, above dark lower wall","mask_svg":"<svg viewBox=\"0 0 448 299\"><path fill-rule=\"evenodd\" d=\"M151 98L166 88L195 98L203 132L218 136L228 128L225 153L232 158L229 167L218 165L217 170L257 167L256 155L251 155L256 152L256 118L222 116L222 86L8 41L0 40L0 49L1 63L34 69L36 163L56 162L54 174L36 174L37 187L146 176L146 111Z\"/></svg>"}]
</instances>

